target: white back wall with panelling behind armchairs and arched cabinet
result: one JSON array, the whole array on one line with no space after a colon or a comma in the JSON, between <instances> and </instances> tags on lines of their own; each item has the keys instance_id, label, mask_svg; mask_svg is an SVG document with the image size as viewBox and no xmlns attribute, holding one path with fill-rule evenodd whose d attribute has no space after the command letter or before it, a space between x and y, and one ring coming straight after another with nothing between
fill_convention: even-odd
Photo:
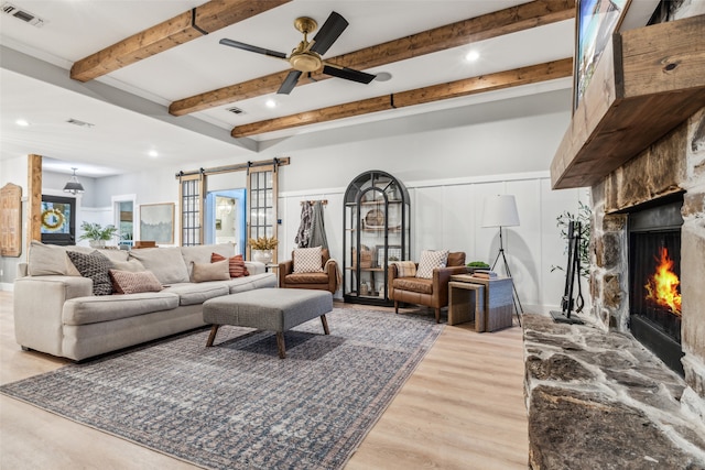
<instances>
[{"instance_id":1,"label":"white back wall with panelling behind armchairs and arched cabinet","mask_svg":"<svg viewBox=\"0 0 705 470\"><path fill-rule=\"evenodd\" d=\"M494 261L498 231L480 227L482 200L516 195L521 226L507 229L505 248L520 298L525 308L556 308L564 276L550 266L565 264L565 243L555 217L575 211L585 197L581 190L552 192L547 174L570 107L571 91L563 89L262 143L249 160L291 159L279 173L279 259L289 259L294 248L301 200L327 199L327 239L332 255L341 260L345 189L358 174L381 170L410 190L412 256L447 248L465 251L468 261ZM94 215L111 211L111 197L120 194L135 194L138 206L173 201L178 214L178 171L236 163L242 162L198 155L193 165L176 167L164 157L161 172L100 178L93 188ZM245 186L245 172L208 183L209 190ZM178 220L175 232L178 242Z\"/></svg>"}]
</instances>

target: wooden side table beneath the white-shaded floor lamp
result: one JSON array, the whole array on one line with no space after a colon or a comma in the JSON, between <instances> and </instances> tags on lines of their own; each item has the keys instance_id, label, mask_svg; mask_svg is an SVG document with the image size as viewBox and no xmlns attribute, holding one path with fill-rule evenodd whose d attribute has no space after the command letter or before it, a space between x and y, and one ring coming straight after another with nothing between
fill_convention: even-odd
<instances>
[{"instance_id":1,"label":"wooden side table beneath the white-shaded floor lamp","mask_svg":"<svg viewBox=\"0 0 705 470\"><path fill-rule=\"evenodd\" d=\"M469 274L456 274L451 276L451 282L469 283L485 287L485 329L484 331L497 331L512 326L514 311L512 281L510 277L496 277L485 280ZM449 285L451 283L448 283ZM451 288L451 287L448 287ZM452 306L451 293L448 293L448 317ZM475 329L477 330L477 321Z\"/></svg>"}]
</instances>

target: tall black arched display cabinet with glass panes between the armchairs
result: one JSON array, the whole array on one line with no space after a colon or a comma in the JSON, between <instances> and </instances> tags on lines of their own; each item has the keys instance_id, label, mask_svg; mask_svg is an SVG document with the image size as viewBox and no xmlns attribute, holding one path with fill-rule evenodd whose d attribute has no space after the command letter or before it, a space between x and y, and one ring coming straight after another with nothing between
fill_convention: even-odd
<instances>
[{"instance_id":1,"label":"tall black arched display cabinet with glass panes between the armchairs","mask_svg":"<svg viewBox=\"0 0 705 470\"><path fill-rule=\"evenodd\" d=\"M392 305L387 271L390 262L409 260L409 192L389 173L365 172L348 185L344 205L343 297Z\"/></svg>"}]
</instances>

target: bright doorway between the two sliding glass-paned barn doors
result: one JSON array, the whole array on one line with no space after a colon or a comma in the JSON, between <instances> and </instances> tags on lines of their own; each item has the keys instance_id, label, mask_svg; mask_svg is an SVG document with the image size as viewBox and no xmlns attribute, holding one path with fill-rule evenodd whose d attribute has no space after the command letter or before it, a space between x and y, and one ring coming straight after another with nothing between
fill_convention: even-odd
<instances>
[{"instance_id":1,"label":"bright doorway between the two sliding glass-paned barn doors","mask_svg":"<svg viewBox=\"0 0 705 470\"><path fill-rule=\"evenodd\" d=\"M235 243L235 253L245 247L245 188L215 190L206 195L206 243Z\"/></svg>"}]
</instances>

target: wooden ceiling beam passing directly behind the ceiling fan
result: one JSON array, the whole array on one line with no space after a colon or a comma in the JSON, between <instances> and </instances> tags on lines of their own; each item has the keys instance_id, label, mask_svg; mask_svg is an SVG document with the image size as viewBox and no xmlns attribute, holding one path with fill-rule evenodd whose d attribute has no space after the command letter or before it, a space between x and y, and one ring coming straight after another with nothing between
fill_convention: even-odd
<instances>
[{"instance_id":1,"label":"wooden ceiling beam passing directly behind the ceiling fan","mask_svg":"<svg viewBox=\"0 0 705 470\"><path fill-rule=\"evenodd\" d=\"M457 23L339 55L327 59L327 62L365 70L380 65L497 37L502 34L516 33L567 20L573 17L575 17L575 0L534 0L529 3L458 21ZM279 89L286 74L289 74L289 70L180 99L171 103L169 112L173 116L184 116L268 95ZM312 76L317 81L330 78L321 73L313 74ZM304 78L300 81L299 86L307 83L310 81Z\"/></svg>"}]
</instances>

